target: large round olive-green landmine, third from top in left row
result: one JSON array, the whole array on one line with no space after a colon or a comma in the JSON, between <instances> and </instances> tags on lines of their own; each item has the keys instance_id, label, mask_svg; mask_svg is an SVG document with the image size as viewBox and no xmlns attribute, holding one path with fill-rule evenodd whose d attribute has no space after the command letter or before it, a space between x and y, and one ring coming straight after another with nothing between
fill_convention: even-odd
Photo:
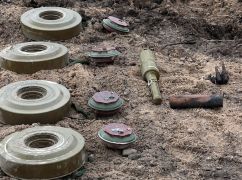
<instances>
[{"instance_id":1,"label":"large round olive-green landmine, third from top in left row","mask_svg":"<svg viewBox=\"0 0 242 180\"><path fill-rule=\"evenodd\" d=\"M67 115L70 93L45 80L11 83L0 89L0 121L4 124L53 124Z\"/></svg>"}]
</instances>

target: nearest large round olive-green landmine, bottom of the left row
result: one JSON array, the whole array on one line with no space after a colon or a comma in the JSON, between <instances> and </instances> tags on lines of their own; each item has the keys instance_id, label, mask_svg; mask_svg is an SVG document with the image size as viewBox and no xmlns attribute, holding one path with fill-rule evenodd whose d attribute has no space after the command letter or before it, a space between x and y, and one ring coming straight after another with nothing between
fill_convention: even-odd
<instances>
[{"instance_id":1,"label":"nearest large round olive-green landmine, bottom of the left row","mask_svg":"<svg viewBox=\"0 0 242 180\"><path fill-rule=\"evenodd\" d=\"M70 128L37 126L0 142L0 166L8 179L60 179L85 161L85 139Z\"/></svg>"}]
</instances>

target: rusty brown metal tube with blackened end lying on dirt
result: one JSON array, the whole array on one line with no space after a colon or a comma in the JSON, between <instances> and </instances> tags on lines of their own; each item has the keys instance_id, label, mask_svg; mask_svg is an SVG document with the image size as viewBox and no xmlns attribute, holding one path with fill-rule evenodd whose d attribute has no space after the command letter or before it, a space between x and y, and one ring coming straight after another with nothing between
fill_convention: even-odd
<instances>
[{"instance_id":1,"label":"rusty brown metal tube with blackened end lying on dirt","mask_svg":"<svg viewBox=\"0 0 242 180\"><path fill-rule=\"evenodd\" d=\"M170 107L183 108L219 108L223 107L221 95L181 95L169 98Z\"/></svg>"}]
</instances>

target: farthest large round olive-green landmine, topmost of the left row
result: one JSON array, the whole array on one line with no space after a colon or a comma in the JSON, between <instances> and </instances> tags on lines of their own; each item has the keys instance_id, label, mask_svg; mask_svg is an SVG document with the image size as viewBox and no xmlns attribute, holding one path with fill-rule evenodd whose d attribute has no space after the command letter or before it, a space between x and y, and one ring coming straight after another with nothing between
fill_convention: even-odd
<instances>
[{"instance_id":1,"label":"farthest large round olive-green landmine, topmost of the left row","mask_svg":"<svg viewBox=\"0 0 242 180\"><path fill-rule=\"evenodd\" d=\"M79 35L82 17L61 7L41 7L21 16L24 35L33 40L65 40Z\"/></svg>"}]
</instances>

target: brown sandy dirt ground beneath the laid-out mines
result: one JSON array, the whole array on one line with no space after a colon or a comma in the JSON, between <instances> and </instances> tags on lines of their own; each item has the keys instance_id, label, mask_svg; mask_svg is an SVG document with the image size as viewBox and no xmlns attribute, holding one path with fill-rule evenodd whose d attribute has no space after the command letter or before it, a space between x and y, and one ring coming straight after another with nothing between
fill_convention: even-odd
<instances>
[{"instance_id":1,"label":"brown sandy dirt ground beneath the laid-out mines","mask_svg":"<svg viewBox=\"0 0 242 180\"><path fill-rule=\"evenodd\" d=\"M0 49L30 41L20 29L19 18L39 6L62 6L83 16L78 37L60 42L72 58L83 58L102 42L115 45L122 56L113 64L96 67L75 64L59 70L18 75L1 69L0 87L26 79L45 79L66 86L72 101L85 111L97 91L112 90L125 100L121 113L108 118L85 119L74 110L56 126L70 127L86 139L93 161L85 164L80 179L242 179L242 2L238 0L36 0L0 1ZM130 23L126 35L106 33L101 20L109 15ZM151 103L139 66L142 47L154 50L160 69L162 105ZM225 63L227 85L206 77ZM178 94L224 94L217 110L173 110L168 97ZM97 131L107 123L132 126L138 141L133 160L103 146ZM31 125L1 125L0 138ZM1 172L2 179L9 179Z\"/></svg>"}]
</instances>

